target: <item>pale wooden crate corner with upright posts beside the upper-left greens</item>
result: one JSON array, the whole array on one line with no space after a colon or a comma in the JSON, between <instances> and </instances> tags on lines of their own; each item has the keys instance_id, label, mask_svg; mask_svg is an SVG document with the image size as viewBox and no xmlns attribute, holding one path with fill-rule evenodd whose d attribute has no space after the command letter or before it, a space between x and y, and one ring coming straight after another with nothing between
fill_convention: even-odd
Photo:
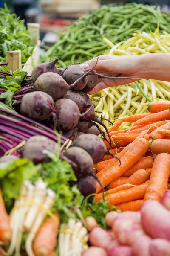
<instances>
[{"instance_id":1,"label":"pale wooden crate corner with upright posts beside the upper-left greens","mask_svg":"<svg viewBox=\"0 0 170 256\"><path fill-rule=\"evenodd\" d=\"M40 24L28 23L28 31L33 40L37 43L34 47L32 55L26 61L26 64L22 68L21 62L21 50L6 52L6 61L9 62L8 66L12 72L16 69L23 69L31 75L32 70L40 61Z\"/></svg>"}]
</instances>

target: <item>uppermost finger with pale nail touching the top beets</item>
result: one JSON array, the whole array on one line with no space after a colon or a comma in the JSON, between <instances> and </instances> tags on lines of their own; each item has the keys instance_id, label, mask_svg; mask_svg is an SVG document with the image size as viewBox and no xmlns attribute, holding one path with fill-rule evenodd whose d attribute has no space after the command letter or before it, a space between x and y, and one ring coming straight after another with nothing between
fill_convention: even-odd
<instances>
[{"instance_id":1,"label":"uppermost finger with pale nail touching the top beets","mask_svg":"<svg viewBox=\"0 0 170 256\"><path fill-rule=\"evenodd\" d=\"M111 64L112 63L112 64ZM96 67L94 67L96 65ZM91 61L88 61L84 64L81 64L80 67L83 67L85 70L90 70L94 67L94 69L97 71L105 70L105 71L113 71L113 61L112 60L98 60L94 58Z\"/></svg>"}]
</instances>

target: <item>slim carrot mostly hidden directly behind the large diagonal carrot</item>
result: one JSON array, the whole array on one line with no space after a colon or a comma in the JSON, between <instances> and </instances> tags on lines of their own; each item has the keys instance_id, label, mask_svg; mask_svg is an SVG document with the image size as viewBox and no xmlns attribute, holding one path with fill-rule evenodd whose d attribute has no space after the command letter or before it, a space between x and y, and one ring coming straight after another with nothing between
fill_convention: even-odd
<instances>
[{"instance_id":1,"label":"slim carrot mostly hidden directly behind the large diagonal carrot","mask_svg":"<svg viewBox=\"0 0 170 256\"><path fill-rule=\"evenodd\" d=\"M136 140L139 140L140 138L143 138L145 135L147 134L147 131L143 131L141 134L139 134L139 136L136 138ZM116 156L121 158L130 148L133 147L133 145L136 145L136 140L134 140L132 143L130 143L128 146L126 146L126 148L124 148L120 153L118 153ZM113 158L111 160L106 160L105 163L101 162L101 166L100 163L97 164L97 171L104 173L106 170L108 170L110 167L114 166L114 164L117 162L118 160L116 158ZM102 167L102 168L101 168Z\"/></svg>"}]
</instances>

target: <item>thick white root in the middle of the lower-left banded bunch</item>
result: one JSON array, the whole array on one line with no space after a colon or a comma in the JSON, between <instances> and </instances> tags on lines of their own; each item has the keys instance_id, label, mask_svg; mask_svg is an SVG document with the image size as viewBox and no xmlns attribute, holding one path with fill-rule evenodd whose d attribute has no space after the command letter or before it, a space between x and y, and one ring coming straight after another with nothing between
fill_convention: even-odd
<instances>
[{"instance_id":1,"label":"thick white root in the middle of the lower-left banded bunch","mask_svg":"<svg viewBox=\"0 0 170 256\"><path fill-rule=\"evenodd\" d=\"M40 205L44 201L46 193L47 183L43 182L41 179L37 180L35 183L35 195L34 195L34 204L31 206L28 215L24 221L24 228L30 230L34 224L37 213L40 210Z\"/></svg>"}]
</instances>

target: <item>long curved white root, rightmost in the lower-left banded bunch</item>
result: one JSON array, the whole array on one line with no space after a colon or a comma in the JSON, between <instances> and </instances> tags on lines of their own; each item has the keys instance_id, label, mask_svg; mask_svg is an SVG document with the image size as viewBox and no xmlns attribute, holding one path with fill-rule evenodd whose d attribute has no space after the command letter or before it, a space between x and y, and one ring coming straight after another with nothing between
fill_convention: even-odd
<instances>
[{"instance_id":1,"label":"long curved white root, rightmost in the lower-left banded bunch","mask_svg":"<svg viewBox=\"0 0 170 256\"><path fill-rule=\"evenodd\" d=\"M34 237L40 228L45 216L47 215L47 211L51 209L51 207L54 205L54 199L55 199L55 193L51 189L47 189L46 191L47 195L43 202L43 208L40 209L40 213L36 216L37 218L34 221L34 225L32 226L28 238L26 240L26 253L28 256L34 256L34 252L32 250L32 242L34 240Z\"/></svg>"}]
</instances>

